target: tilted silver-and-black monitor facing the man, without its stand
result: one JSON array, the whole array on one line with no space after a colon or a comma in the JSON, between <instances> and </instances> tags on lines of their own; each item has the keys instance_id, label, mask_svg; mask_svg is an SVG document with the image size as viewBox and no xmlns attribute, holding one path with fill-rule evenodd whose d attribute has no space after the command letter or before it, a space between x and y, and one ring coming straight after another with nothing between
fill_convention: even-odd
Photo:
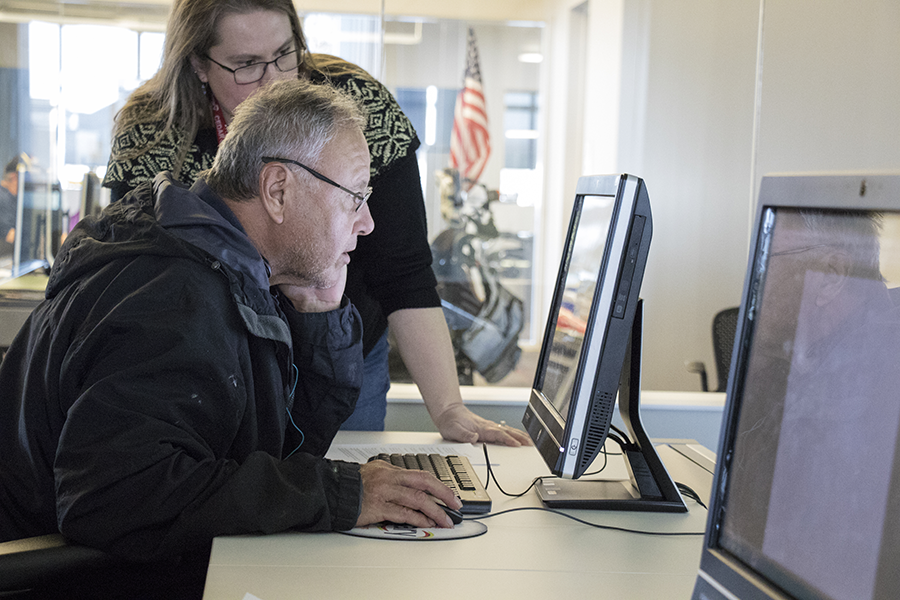
<instances>
[{"instance_id":1,"label":"tilted silver-and-black monitor facing the man, without its stand","mask_svg":"<svg viewBox=\"0 0 900 600\"><path fill-rule=\"evenodd\" d=\"M551 471L584 474L603 448L631 337L652 219L644 182L582 177L523 419Z\"/></svg>"}]
</instances>

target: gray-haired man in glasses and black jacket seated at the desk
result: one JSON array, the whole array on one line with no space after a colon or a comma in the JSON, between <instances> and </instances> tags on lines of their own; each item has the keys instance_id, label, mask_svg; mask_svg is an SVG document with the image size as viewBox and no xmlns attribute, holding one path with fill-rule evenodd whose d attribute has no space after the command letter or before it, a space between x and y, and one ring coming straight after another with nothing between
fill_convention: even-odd
<instances>
[{"instance_id":1,"label":"gray-haired man in glasses and black jacket seated at the desk","mask_svg":"<svg viewBox=\"0 0 900 600\"><path fill-rule=\"evenodd\" d=\"M217 535L452 526L437 479L322 458L362 374L343 296L374 227L362 123L330 88L274 84L193 187L162 173L79 223L0 368L0 541L61 532L174 598Z\"/></svg>"}]
</instances>

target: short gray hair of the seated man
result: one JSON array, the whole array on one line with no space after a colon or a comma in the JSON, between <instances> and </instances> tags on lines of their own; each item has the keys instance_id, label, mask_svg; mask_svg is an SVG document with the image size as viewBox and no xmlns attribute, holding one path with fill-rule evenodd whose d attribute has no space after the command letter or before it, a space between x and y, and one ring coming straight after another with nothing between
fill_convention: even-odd
<instances>
[{"instance_id":1,"label":"short gray hair of the seated man","mask_svg":"<svg viewBox=\"0 0 900 600\"><path fill-rule=\"evenodd\" d=\"M363 131L365 123L361 105L330 86L300 79L274 82L237 107L206 181L224 198L250 200L259 195L263 156L316 168L339 131Z\"/></svg>"}]
</instances>

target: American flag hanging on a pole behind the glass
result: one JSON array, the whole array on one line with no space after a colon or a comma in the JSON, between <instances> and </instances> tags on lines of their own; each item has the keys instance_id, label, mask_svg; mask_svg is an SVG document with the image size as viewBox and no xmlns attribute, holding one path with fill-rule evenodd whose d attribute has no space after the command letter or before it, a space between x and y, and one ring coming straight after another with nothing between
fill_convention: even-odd
<instances>
[{"instance_id":1,"label":"American flag hanging on a pole behind the glass","mask_svg":"<svg viewBox=\"0 0 900 600\"><path fill-rule=\"evenodd\" d=\"M453 133L450 138L450 166L458 169L466 189L478 181L488 156L491 140L487 128L487 109L481 88L481 67L478 64L478 48L475 32L469 28L466 37L466 74L463 89L456 97L453 110Z\"/></svg>"}]
</instances>

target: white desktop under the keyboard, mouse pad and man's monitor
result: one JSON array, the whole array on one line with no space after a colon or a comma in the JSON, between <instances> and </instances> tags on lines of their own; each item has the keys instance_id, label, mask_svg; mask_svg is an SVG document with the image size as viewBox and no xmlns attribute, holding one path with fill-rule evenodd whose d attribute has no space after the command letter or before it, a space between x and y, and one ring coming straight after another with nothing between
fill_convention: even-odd
<instances>
[{"instance_id":1,"label":"white desktop under the keyboard, mouse pad and man's monitor","mask_svg":"<svg viewBox=\"0 0 900 600\"><path fill-rule=\"evenodd\" d=\"M341 432L335 443L436 444L440 443L440 436ZM706 502L712 473L676 448L686 449L690 455L695 447L660 446L660 456L669 473L675 481L696 490ZM535 476L548 473L534 448L490 446L489 452L496 465L494 471L507 492L520 492ZM605 478L625 478L621 458L612 459ZM482 467L476 470L480 475L484 472ZM488 492L494 512L540 506L534 492L511 499L501 494L493 482ZM567 512L595 523L647 531L702 532L706 510L691 500L686 502L690 510L684 514ZM660 537L599 530L539 511L499 515L483 522L488 526L487 533L462 540L380 540L340 533L217 538L204 600L677 600L690 598L700 564L702 536ZM452 580L464 581L464 591L449 585Z\"/></svg>"}]
</instances>

